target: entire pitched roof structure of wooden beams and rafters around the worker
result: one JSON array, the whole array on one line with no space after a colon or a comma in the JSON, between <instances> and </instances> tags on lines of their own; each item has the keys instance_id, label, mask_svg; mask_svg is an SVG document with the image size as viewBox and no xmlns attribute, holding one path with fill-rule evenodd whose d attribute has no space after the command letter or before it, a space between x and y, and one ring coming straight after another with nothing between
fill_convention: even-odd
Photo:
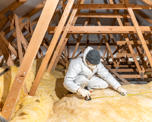
<instances>
[{"instance_id":1,"label":"entire pitched roof structure of wooden beams and rafters around the worker","mask_svg":"<svg viewBox=\"0 0 152 122\"><path fill-rule=\"evenodd\" d=\"M136 3L135 3L136 2ZM87 46L124 78L151 78L151 0L12 0L0 6L0 66L19 65L2 114L9 119L32 63L43 58L30 95L45 70L67 68ZM2 5L0 4L0 5ZM73 51L69 51L72 47Z\"/></svg>"}]
</instances>

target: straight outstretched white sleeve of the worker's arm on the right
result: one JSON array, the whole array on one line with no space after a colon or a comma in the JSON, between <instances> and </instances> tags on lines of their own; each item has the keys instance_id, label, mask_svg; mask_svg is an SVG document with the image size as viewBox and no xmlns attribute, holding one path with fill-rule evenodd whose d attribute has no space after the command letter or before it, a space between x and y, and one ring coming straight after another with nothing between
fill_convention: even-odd
<instances>
[{"instance_id":1,"label":"straight outstretched white sleeve of the worker's arm on the right","mask_svg":"<svg viewBox=\"0 0 152 122\"><path fill-rule=\"evenodd\" d=\"M104 67L102 63L97 66L97 74L109 83L115 90L120 87L120 83L112 76L112 74Z\"/></svg>"}]
</instances>

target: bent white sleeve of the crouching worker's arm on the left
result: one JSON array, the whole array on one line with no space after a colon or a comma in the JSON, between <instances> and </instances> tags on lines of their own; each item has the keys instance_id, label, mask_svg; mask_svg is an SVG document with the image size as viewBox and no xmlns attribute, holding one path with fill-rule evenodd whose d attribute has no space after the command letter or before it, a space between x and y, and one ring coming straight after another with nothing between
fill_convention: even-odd
<instances>
[{"instance_id":1,"label":"bent white sleeve of the crouching worker's arm on the left","mask_svg":"<svg viewBox=\"0 0 152 122\"><path fill-rule=\"evenodd\" d=\"M78 74L81 72L81 64L79 62L77 62L76 60L72 60L68 71L66 73L66 76L64 78L64 87L73 92L76 93L77 90L80 88L80 86L78 86L74 80L76 79L76 77L78 76Z\"/></svg>"}]
</instances>

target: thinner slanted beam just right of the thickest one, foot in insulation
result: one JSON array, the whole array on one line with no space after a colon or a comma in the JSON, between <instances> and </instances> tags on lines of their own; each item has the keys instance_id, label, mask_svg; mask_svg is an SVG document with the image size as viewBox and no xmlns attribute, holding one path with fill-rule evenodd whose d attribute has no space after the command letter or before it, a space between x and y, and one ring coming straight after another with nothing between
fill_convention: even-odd
<instances>
[{"instance_id":1,"label":"thinner slanted beam just right of the thickest one, foot in insulation","mask_svg":"<svg viewBox=\"0 0 152 122\"><path fill-rule=\"evenodd\" d=\"M64 27L64 25L66 23L68 15L70 14L70 11L72 9L73 4L74 4L74 0L69 0L67 5L66 5L66 7L65 7L65 9L64 9L64 12L62 14L61 20L60 20L60 22L58 24L58 27L55 30L55 33L54 33L54 36L53 36L53 38L51 40L49 48L48 48L48 50L46 52L46 55L45 55L45 57L44 57L44 59L43 59L43 61L41 63L41 66L40 66L40 68L38 70L36 78L35 78L35 80L33 82L32 87L31 87L30 95L34 95L35 92L36 92L36 89L37 89L37 87L39 85L39 81L40 81L40 79L41 79L41 77L42 77L42 75L43 75L43 73L44 73L44 71L45 71L45 69L46 69L46 67L48 65L48 62L49 62L49 60L50 60L50 58L51 58L51 56L53 54L53 50L54 50L54 48L55 48L55 46L57 44L57 41L58 41L58 39L60 37L61 32L63 31L63 27Z\"/></svg>"}]
</instances>

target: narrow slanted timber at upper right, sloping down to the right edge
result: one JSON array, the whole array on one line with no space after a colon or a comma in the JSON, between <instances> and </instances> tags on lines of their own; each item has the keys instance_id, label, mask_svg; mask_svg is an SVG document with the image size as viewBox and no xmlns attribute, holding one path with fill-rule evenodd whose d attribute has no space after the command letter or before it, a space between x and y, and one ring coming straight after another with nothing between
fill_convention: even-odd
<instances>
[{"instance_id":1,"label":"narrow slanted timber at upper right, sloping down to the right edge","mask_svg":"<svg viewBox=\"0 0 152 122\"><path fill-rule=\"evenodd\" d=\"M135 26L136 31L137 31L137 35L138 35L138 37L139 37L139 39L140 39L140 41L141 41L141 43L142 43L142 46L143 46L143 48L144 48L144 50L145 50L146 55L147 55L147 57L148 57L150 66L152 67L152 55L150 54L150 51L148 50L146 41L145 41L145 39L144 39L144 37L143 37L143 34L142 34L142 30L141 30L141 28L140 28L139 25L138 25L138 22L137 22L137 20L136 20L136 17L135 17L135 15L134 15L134 13L133 13L132 8L128 8L128 12L129 12L129 14L130 14L131 20L132 20L132 22L133 22L133 24L134 24L134 26Z\"/></svg>"}]
</instances>

